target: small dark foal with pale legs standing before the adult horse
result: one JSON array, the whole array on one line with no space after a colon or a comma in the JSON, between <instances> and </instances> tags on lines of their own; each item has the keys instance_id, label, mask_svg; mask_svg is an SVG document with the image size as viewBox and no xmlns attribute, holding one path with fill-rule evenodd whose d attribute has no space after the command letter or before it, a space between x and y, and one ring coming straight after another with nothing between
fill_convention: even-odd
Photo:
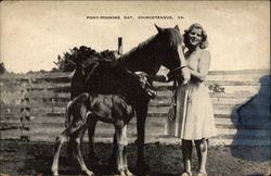
<instances>
[{"instance_id":1,"label":"small dark foal with pale legs standing before the adult horse","mask_svg":"<svg viewBox=\"0 0 271 176\"><path fill-rule=\"evenodd\" d=\"M130 90L133 97L146 96L154 98L156 92L152 90L144 74L134 75L137 77L134 85ZM143 93L143 95L142 95ZM80 152L80 141L87 128L90 128L91 122L102 121L112 123L115 127L114 147L116 147L116 164L120 175L132 175L127 164L127 125L134 116L134 98L118 95L81 93L68 102L66 109L66 129L56 137L55 153L52 164L53 175L59 175L59 158L62 144L69 139L75 143L75 158L80 164L81 169L87 175L93 175L83 162ZM94 130L94 129L92 129Z\"/></svg>"}]
</instances>

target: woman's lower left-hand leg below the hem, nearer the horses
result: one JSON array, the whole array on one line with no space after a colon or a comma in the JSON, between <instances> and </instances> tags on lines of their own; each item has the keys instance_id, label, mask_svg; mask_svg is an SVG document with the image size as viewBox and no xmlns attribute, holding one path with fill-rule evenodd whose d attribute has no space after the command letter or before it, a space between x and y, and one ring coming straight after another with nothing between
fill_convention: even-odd
<instances>
[{"instance_id":1,"label":"woman's lower left-hand leg below the hem, nearer the horses","mask_svg":"<svg viewBox=\"0 0 271 176\"><path fill-rule=\"evenodd\" d=\"M192 159L192 140L182 139L182 156L184 171L182 175L192 175L191 172L191 159Z\"/></svg>"}]
</instances>

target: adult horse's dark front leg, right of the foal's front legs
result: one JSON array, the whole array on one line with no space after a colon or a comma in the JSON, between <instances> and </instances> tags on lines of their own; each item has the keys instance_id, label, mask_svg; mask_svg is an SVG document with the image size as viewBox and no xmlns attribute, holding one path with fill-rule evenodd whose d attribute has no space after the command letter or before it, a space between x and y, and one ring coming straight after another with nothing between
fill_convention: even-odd
<instances>
[{"instance_id":1,"label":"adult horse's dark front leg, right of the foal's front legs","mask_svg":"<svg viewBox=\"0 0 271 176\"><path fill-rule=\"evenodd\" d=\"M145 171L146 164L144 162L144 142L145 142L145 120L147 114L147 104L141 105L137 109L137 129L138 139L136 144L138 146L138 161L137 165L140 171Z\"/></svg>"}]
</instances>

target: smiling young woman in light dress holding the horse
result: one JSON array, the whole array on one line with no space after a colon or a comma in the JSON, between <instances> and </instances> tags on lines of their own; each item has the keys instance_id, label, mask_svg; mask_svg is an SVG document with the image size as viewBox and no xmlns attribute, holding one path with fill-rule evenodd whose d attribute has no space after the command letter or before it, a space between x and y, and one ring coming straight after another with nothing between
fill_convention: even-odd
<instances>
[{"instance_id":1,"label":"smiling young woman in light dress holding the horse","mask_svg":"<svg viewBox=\"0 0 271 176\"><path fill-rule=\"evenodd\" d=\"M182 139L184 164L181 176L192 175L192 141L195 143L198 156L197 176L207 175L207 140L216 136L212 104L208 88L205 86L210 64L210 53L205 50L207 42L207 34L199 24L192 24L184 30L184 45L188 48L184 56L191 79L186 86L177 88L177 116L179 115L181 120L178 130Z\"/></svg>"}]
</instances>

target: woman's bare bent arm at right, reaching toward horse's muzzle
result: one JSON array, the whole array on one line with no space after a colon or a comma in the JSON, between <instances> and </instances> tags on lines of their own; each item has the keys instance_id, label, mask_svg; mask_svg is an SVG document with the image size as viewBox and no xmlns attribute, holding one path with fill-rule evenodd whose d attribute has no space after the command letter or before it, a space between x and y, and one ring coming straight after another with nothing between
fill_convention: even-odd
<instances>
[{"instance_id":1,"label":"woman's bare bent arm at right, reaching toward horse's muzzle","mask_svg":"<svg viewBox=\"0 0 271 176\"><path fill-rule=\"evenodd\" d=\"M210 53L208 51L203 51L201 59L198 61L198 71L189 67L190 74L199 80L204 81L208 75L210 65Z\"/></svg>"}]
</instances>

